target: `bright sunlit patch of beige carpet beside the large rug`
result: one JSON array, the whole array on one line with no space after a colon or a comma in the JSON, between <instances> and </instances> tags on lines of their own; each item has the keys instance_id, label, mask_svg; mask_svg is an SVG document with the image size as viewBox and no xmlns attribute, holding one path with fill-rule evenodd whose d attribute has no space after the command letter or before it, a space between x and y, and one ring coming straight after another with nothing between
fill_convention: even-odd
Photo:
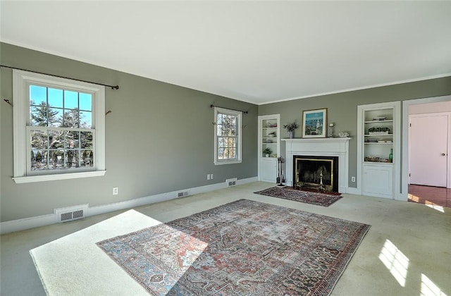
<instances>
[{"instance_id":1,"label":"bright sunlit patch of beige carpet beside the large rug","mask_svg":"<svg viewBox=\"0 0 451 296\"><path fill-rule=\"evenodd\" d=\"M159 223L130 210L32 249L47 295L148 295L96 242Z\"/></svg>"}]
</instances>

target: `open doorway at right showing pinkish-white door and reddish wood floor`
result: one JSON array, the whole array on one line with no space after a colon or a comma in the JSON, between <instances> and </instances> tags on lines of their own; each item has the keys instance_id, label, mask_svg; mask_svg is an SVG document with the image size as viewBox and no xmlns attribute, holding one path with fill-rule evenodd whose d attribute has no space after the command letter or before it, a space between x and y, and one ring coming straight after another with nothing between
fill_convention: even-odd
<instances>
[{"instance_id":1,"label":"open doorway at right showing pinkish-white door and reddish wood floor","mask_svg":"<svg viewBox=\"0 0 451 296\"><path fill-rule=\"evenodd\" d=\"M451 96L403 101L402 124L403 199L450 206Z\"/></svg>"}]
</instances>

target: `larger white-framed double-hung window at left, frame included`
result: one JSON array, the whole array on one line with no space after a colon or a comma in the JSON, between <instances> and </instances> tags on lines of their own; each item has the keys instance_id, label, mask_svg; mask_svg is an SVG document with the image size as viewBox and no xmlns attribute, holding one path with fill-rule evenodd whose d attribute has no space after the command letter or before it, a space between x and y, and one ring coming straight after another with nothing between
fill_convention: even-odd
<instances>
[{"instance_id":1,"label":"larger white-framed double-hung window at left, frame included","mask_svg":"<svg viewBox=\"0 0 451 296\"><path fill-rule=\"evenodd\" d=\"M104 86L13 70L14 180L105 174Z\"/></svg>"}]
</instances>

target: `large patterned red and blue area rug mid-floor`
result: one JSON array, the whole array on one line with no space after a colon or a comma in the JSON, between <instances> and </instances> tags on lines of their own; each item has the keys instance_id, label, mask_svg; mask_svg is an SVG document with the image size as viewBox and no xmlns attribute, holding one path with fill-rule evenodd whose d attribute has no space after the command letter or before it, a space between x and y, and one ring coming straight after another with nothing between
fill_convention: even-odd
<instances>
[{"instance_id":1,"label":"large patterned red and blue area rug mid-floor","mask_svg":"<svg viewBox=\"0 0 451 296\"><path fill-rule=\"evenodd\" d=\"M329 295L369 228L240 199L97 245L152 295Z\"/></svg>"}]
</instances>

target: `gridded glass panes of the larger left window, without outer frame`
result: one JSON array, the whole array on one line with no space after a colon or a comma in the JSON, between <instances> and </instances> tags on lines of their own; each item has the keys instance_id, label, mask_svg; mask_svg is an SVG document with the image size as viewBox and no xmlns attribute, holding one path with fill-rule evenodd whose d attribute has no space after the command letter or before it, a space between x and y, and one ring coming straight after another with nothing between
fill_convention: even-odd
<instances>
[{"instance_id":1,"label":"gridded glass panes of the larger left window, without outer frame","mask_svg":"<svg viewBox=\"0 0 451 296\"><path fill-rule=\"evenodd\" d=\"M94 167L92 94L30 85L30 171Z\"/></svg>"}]
</instances>

